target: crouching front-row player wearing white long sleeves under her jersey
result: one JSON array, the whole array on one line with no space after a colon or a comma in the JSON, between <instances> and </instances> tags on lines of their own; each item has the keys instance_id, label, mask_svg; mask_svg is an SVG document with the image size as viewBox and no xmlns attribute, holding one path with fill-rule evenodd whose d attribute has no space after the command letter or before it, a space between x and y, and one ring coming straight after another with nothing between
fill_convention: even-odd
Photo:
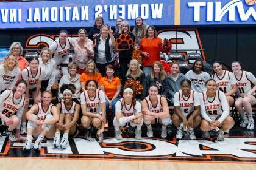
<instances>
[{"instance_id":1,"label":"crouching front-row player wearing white long sleeves under her jersey","mask_svg":"<svg viewBox=\"0 0 256 170\"><path fill-rule=\"evenodd\" d=\"M205 83L207 91L200 95L201 100L201 130L203 138L210 138L209 131L219 128L218 141L224 141L224 132L229 131L235 122L229 115L229 103L224 92L216 90L216 81L210 79Z\"/></svg>"}]
</instances>

